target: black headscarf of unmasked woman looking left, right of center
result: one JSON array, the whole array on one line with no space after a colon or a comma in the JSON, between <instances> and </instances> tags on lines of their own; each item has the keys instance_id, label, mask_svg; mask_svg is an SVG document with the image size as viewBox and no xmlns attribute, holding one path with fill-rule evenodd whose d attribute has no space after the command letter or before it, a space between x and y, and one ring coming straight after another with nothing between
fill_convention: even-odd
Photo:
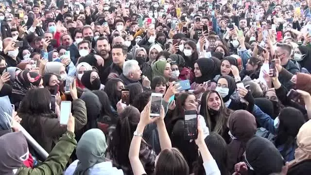
<instances>
[{"instance_id":1,"label":"black headscarf of unmasked woman looking left, right of center","mask_svg":"<svg viewBox=\"0 0 311 175\"><path fill-rule=\"evenodd\" d=\"M214 60L209 58L200 58L195 61L202 73L201 77L195 77L195 82L198 84L203 84L204 82L207 82L208 80L212 80L217 74L216 65L214 63Z\"/></svg>"}]
</instances>

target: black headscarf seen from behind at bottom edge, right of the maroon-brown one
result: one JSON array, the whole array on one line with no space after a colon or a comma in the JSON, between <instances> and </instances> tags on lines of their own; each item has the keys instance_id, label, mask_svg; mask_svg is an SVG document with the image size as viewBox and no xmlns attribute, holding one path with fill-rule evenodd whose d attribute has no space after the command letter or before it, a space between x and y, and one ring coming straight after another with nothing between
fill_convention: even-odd
<instances>
[{"instance_id":1,"label":"black headscarf seen from behind at bottom edge, right of the maroon-brown one","mask_svg":"<svg viewBox=\"0 0 311 175\"><path fill-rule=\"evenodd\" d=\"M245 162L253 167L256 175L279 173L285 161L276 146L268 139L255 136L246 144Z\"/></svg>"}]
</instances>

